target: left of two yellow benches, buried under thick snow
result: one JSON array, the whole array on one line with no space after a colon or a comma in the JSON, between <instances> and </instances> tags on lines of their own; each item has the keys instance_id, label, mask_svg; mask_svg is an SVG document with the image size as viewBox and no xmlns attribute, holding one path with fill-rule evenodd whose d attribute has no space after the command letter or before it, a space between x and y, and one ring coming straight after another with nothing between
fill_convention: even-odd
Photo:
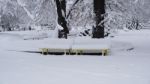
<instances>
[{"instance_id":1,"label":"left of two yellow benches, buried under thick snow","mask_svg":"<svg viewBox=\"0 0 150 84\"><path fill-rule=\"evenodd\" d=\"M51 39L48 43L41 46L40 51L42 54L66 54L69 53L72 43L73 41L70 39Z\"/></svg>"}]
</instances>

